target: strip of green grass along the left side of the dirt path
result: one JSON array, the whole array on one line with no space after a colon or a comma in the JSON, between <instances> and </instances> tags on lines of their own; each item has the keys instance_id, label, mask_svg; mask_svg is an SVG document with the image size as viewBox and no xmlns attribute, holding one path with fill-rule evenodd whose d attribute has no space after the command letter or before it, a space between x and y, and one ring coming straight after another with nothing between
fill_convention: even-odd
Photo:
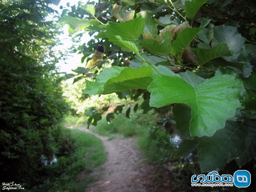
<instances>
[{"instance_id":1,"label":"strip of green grass along the left side of the dirt path","mask_svg":"<svg viewBox=\"0 0 256 192\"><path fill-rule=\"evenodd\" d=\"M44 178L43 184L36 186L32 191L84 192L88 183L95 180L90 176L92 169L106 162L106 153L100 139L75 129L65 131L75 139L73 145L76 150L71 154L58 157L57 163L47 165L53 178ZM81 172L83 174L78 177Z\"/></svg>"}]
</instances>

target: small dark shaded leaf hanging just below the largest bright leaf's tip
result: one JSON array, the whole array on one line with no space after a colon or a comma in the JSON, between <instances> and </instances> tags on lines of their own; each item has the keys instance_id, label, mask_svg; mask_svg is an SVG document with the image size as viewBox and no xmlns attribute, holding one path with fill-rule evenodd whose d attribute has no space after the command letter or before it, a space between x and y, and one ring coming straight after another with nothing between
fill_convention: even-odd
<instances>
[{"instance_id":1,"label":"small dark shaded leaf hanging just below the largest bright leaf's tip","mask_svg":"<svg viewBox=\"0 0 256 192\"><path fill-rule=\"evenodd\" d=\"M198 146L199 140L184 140L179 146L177 155L187 157Z\"/></svg>"}]
</instances>

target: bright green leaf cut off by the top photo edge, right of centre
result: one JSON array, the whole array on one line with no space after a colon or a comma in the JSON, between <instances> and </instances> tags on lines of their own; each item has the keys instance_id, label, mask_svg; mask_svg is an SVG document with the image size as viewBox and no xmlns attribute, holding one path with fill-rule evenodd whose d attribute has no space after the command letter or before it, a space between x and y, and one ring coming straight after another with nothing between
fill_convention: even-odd
<instances>
[{"instance_id":1,"label":"bright green leaf cut off by the top photo edge, right of centre","mask_svg":"<svg viewBox=\"0 0 256 192\"><path fill-rule=\"evenodd\" d=\"M192 0L192 1L185 1L185 5L183 6L183 9L186 13L186 17L189 19L194 18L200 7L205 4L209 0Z\"/></svg>"}]
</instances>

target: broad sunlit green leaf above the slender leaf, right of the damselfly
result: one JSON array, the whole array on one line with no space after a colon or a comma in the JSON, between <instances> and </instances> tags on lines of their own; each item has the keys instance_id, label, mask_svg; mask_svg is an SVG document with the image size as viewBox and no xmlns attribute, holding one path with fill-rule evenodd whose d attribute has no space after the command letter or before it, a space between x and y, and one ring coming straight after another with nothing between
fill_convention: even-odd
<instances>
[{"instance_id":1,"label":"broad sunlit green leaf above the slender leaf, right of the damselfly","mask_svg":"<svg viewBox=\"0 0 256 192\"><path fill-rule=\"evenodd\" d=\"M116 39L116 36L121 36L124 41L135 43L138 37L142 34L144 27L145 20L140 16L134 20L125 21L123 23L109 22L104 34L108 37L108 41L121 47L123 51L129 51L124 44Z\"/></svg>"}]
</instances>

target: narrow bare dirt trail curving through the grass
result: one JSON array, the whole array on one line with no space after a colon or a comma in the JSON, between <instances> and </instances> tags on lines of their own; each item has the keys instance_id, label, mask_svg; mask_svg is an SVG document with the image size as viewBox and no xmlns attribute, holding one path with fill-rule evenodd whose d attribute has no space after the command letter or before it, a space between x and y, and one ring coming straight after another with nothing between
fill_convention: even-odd
<instances>
[{"instance_id":1,"label":"narrow bare dirt trail curving through the grass","mask_svg":"<svg viewBox=\"0 0 256 192\"><path fill-rule=\"evenodd\" d=\"M152 165L136 149L136 138L108 137L91 132L86 126L74 127L89 132L102 140L107 152L107 162L98 166L91 173L96 182L86 188L86 192L148 192L159 191L154 187L155 171ZM170 191L170 190L161 190Z\"/></svg>"}]
</instances>

